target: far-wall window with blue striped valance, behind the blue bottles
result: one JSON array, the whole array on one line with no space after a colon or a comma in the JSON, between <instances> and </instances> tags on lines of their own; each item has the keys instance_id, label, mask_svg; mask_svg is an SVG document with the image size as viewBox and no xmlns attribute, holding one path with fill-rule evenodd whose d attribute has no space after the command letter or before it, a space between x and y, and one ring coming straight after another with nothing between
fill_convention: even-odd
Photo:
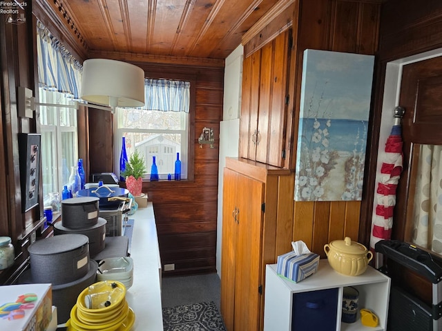
<instances>
[{"instance_id":1,"label":"far-wall window with blue striped valance, behind the blue bottles","mask_svg":"<svg viewBox=\"0 0 442 331\"><path fill-rule=\"evenodd\" d=\"M128 157L136 149L146 161L145 179L150 178L153 157L160 180L167 179L168 174L173 178L177 153L182 163L181 178L188 178L189 91L188 81L146 79L146 106L117 108L115 169L119 169L122 137L126 137Z\"/></svg>"}]
</instances>

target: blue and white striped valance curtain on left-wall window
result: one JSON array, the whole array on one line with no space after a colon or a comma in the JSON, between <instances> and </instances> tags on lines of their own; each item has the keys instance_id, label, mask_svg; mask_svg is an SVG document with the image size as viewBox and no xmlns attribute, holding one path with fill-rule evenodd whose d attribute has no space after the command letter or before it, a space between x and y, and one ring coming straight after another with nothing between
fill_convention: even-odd
<instances>
[{"instance_id":1,"label":"blue and white striped valance curtain on left-wall window","mask_svg":"<svg viewBox=\"0 0 442 331\"><path fill-rule=\"evenodd\" d=\"M37 21L39 87L79 99L82 66L49 30Z\"/></svg>"}]
</instances>

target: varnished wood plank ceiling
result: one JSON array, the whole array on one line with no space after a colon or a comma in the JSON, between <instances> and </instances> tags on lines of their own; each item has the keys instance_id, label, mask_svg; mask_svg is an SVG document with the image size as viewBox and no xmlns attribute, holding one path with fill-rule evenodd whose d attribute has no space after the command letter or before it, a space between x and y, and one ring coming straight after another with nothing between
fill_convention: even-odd
<instances>
[{"instance_id":1,"label":"varnished wood plank ceiling","mask_svg":"<svg viewBox=\"0 0 442 331\"><path fill-rule=\"evenodd\" d=\"M287 1L287 0L280 0ZM278 0L39 0L84 54L225 59Z\"/></svg>"}]
</instances>

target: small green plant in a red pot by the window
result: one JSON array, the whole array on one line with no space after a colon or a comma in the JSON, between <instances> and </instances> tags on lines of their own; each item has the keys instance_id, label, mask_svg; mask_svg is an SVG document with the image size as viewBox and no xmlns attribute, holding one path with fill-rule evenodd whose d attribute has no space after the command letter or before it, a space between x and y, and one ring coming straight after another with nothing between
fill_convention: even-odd
<instances>
[{"instance_id":1,"label":"small green plant in a red pot by the window","mask_svg":"<svg viewBox=\"0 0 442 331\"><path fill-rule=\"evenodd\" d=\"M126 162L126 169L122 172L122 175L126 177L126 188L134 197L140 197L142 194L143 177L146 172L144 157L135 150Z\"/></svg>"}]
</instances>

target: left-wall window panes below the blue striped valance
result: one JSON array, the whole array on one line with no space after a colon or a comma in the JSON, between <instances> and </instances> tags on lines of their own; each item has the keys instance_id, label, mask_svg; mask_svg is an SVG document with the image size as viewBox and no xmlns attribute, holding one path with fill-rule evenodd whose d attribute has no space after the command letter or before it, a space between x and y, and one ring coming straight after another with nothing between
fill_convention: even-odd
<instances>
[{"instance_id":1,"label":"left-wall window panes below the blue striped valance","mask_svg":"<svg viewBox=\"0 0 442 331\"><path fill-rule=\"evenodd\" d=\"M66 94L39 88L39 102L68 104ZM61 192L70 169L77 165L77 110L40 107L41 175L44 201L50 192Z\"/></svg>"}]
</instances>

